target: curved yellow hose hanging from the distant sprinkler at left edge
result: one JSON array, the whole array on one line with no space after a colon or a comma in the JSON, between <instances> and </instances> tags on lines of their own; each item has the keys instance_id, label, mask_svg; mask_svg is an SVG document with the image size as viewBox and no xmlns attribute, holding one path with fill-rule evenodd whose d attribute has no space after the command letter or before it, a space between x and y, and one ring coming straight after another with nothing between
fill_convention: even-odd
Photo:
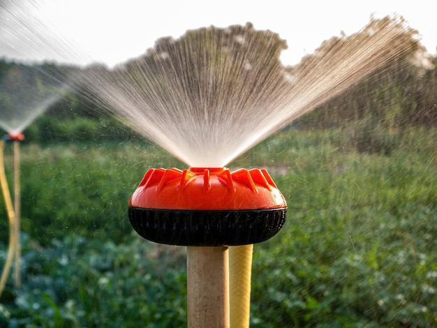
<instances>
[{"instance_id":1,"label":"curved yellow hose hanging from the distant sprinkler at left edge","mask_svg":"<svg viewBox=\"0 0 437 328\"><path fill-rule=\"evenodd\" d=\"M4 202L6 205L6 214L8 215L8 223L9 223L9 246L8 246L8 255L6 257L6 262L3 267L3 272L1 273L0 279L0 296L3 292L4 286L6 285L6 281L8 280L8 275L10 271L10 266L13 261L14 253L15 253L15 213L13 209L12 200L10 199L10 193L8 188L8 181L6 180L6 174L4 170L4 160L3 160L3 149L4 149L5 141L0 140L0 184L1 191L3 193Z\"/></svg>"}]
</instances>

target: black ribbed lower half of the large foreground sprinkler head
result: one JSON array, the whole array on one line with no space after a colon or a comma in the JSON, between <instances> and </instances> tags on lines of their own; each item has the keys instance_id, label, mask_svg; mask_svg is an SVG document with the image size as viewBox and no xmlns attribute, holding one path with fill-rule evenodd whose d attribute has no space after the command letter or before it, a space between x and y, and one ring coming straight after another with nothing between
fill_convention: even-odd
<instances>
[{"instance_id":1,"label":"black ribbed lower half of the large foreground sprinkler head","mask_svg":"<svg viewBox=\"0 0 437 328\"><path fill-rule=\"evenodd\" d=\"M238 211L190 211L129 207L141 237L179 246L236 246L265 241L281 230L286 208Z\"/></svg>"}]
</instances>

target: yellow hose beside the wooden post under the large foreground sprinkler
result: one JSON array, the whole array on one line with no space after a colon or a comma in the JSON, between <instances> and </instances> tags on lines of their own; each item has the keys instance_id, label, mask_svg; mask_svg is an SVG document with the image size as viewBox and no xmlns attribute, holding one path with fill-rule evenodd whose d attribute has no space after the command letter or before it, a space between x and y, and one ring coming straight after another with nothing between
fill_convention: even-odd
<instances>
[{"instance_id":1,"label":"yellow hose beside the wooden post under the large foreground sprinkler","mask_svg":"<svg viewBox=\"0 0 437 328\"><path fill-rule=\"evenodd\" d=\"M230 328L248 328L253 244L229 247Z\"/></svg>"}]
</instances>

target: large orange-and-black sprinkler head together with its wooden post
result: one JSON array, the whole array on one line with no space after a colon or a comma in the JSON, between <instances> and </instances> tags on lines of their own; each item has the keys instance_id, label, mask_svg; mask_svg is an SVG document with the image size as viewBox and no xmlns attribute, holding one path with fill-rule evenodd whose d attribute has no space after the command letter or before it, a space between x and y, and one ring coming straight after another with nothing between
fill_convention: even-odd
<instances>
[{"instance_id":1,"label":"large orange-and-black sprinkler head together with its wooden post","mask_svg":"<svg viewBox=\"0 0 437 328\"><path fill-rule=\"evenodd\" d=\"M148 170L128 215L141 237L187 246L188 327L229 327L228 246L273 237L286 211L266 170L190 167Z\"/></svg>"}]
</instances>

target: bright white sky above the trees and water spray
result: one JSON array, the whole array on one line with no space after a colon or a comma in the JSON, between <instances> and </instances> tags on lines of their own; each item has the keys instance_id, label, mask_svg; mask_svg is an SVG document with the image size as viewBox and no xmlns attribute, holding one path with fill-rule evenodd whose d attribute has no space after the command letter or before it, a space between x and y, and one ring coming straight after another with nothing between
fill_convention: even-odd
<instances>
[{"instance_id":1,"label":"bright white sky above the trees and water spray","mask_svg":"<svg viewBox=\"0 0 437 328\"><path fill-rule=\"evenodd\" d=\"M323 40L360 31L371 15L394 14L419 31L428 52L437 47L436 0L1 0L0 10L0 57L27 61L113 66L164 36L251 22L287 40L281 59L296 64Z\"/></svg>"}]
</instances>

